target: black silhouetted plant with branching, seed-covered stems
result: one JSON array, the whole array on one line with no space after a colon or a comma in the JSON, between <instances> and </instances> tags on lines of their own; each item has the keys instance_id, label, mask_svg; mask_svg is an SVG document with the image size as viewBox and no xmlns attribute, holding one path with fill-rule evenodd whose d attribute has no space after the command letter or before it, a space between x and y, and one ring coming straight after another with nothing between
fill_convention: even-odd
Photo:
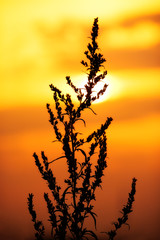
<instances>
[{"instance_id":1,"label":"black silhouetted plant with branching, seed-covered stems","mask_svg":"<svg viewBox=\"0 0 160 240\"><path fill-rule=\"evenodd\" d=\"M98 82L105 78L107 71L100 72L103 63L106 61L103 55L99 53L98 43L98 18L94 19L91 31L91 42L87 45L87 51L84 52L86 61L82 60L81 64L86 68L88 80L84 86L84 90L77 88L69 76L66 77L67 84L74 90L78 106L76 107L69 94L64 95L54 85L50 85L53 91L53 99L55 102L55 113L51 110L50 104L47 104L47 110L50 116L49 122L53 126L56 141L60 142L64 155L52 161L41 152L42 162L36 153L33 154L35 164L42 176L47 182L52 197L48 193L44 193L44 200L47 205L49 222L51 224L50 239L98 239L93 230L84 226L87 217L92 217L96 228L97 215L94 212L94 201L96 200L96 189L101 187L104 170L107 167L106 156L106 130L112 122L112 118L108 117L101 124L101 127L92 132L86 139L80 138L79 132L76 130L75 123L85 120L81 117L85 109L90 109L92 103L99 99L107 89L104 84L103 88L94 94L94 87ZM94 111L93 111L94 113ZM59 125L62 125L61 129ZM87 153L83 146L89 145ZM93 156L98 151L97 162L93 165ZM77 159L77 152L81 154L80 160ZM59 159L66 159L68 178L64 179L65 189L62 189L53 174L51 164ZM127 204L122 209L122 217L118 218L114 223L114 229L102 233L104 239L114 239L117 230L128 220L128 214L132 212L132 203L135 195L136 179L132 180L131 192ZM68 203L68 201L70 202ZM28 196L28 209L34 223L35 238L37 240L45 239L45 228L41 221L37 220L37 215L33 205L33 194ZM105 235L107 234L107 236Z\"/></svg>"}]
</instances>

